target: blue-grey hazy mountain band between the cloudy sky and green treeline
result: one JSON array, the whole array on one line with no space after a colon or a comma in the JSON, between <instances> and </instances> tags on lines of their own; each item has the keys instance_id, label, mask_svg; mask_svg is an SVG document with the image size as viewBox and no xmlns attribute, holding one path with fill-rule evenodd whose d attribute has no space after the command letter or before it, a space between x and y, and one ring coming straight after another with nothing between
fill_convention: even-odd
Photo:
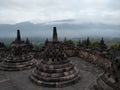
<instances>
[{"instance_id":1,"label":"blue-grey hazy mountain band between the cloudy sky and green treeline","mask_svg":"<svg viewBox=\"0 0 120 90\"><path fill-rule=\"evenodd\" d=\"M120 25L102 23L75 23L73 20L61 20L49 23L34 24L21 22L17 24L0 24L0 37L15 37L16 30L21 30L23 37L49 38L52 27L56 26L60 38L80 37L120 37Z\"/></svg>"}]
</instances>

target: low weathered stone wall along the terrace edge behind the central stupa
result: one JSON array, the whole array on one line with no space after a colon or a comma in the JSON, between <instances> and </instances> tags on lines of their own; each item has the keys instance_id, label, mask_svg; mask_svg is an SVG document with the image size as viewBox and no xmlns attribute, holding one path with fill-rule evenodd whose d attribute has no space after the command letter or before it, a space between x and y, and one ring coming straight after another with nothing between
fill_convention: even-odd
<instances>
[{"instance_id":1,"label":"low weathered stone wall along the terrace edge behind the central stupa","mask_svg":"<svg viewBox=\"0 0 120 90\"><path fill-rule=\"evenodd\" d=\"M80 58L83 58L84 60L96 64L104 69L110 66L111 62L110 60L101 57L100 55L97 55L96 53L90 53L85 50L78 50L78 49L68 49L66 50L68 57L75 57L78 56ZM34 58L40 59L43 58L44 52L35 52Z\"/></svg>"}]
</instances>

